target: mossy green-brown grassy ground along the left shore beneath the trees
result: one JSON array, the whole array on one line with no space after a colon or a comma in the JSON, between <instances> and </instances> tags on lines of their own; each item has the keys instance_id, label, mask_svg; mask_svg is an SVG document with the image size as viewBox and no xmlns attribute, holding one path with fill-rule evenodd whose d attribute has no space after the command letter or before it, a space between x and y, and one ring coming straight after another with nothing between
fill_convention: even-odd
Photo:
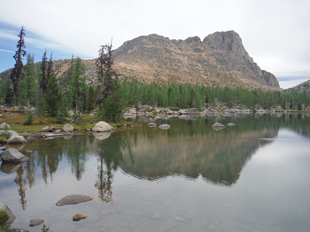
<instances>
[{"instance_id":1,"label":"mossy green-brown grassy ground along the left shore beneath the trees","mask_svg":"<svg viewBox=\"0 0 310 232\"><path fill-rule=\"evenodd\" d=\"M64 124L57 123L56 119L54 117L51 117L49 114L45 114L42 118L42 123L40 123L40 118L36 115L33 115L33 123L32 125L23 125L23 122L27 118L26 113L18 113L18 112L3 112L2 117L0 117L0 124L3 122L6 122L10 127L11 130L16 131L17 133L23 133L23 132L35 132L40 131L45 126L53 126L53 127L59 127L61 128ZM94 124L96 124L99 119L97 119L95 116L91 117L89 115L82 115L79 125L75 125L72 123L74 130L84 130L86 128L92 129ZM133 122L130 121L121 121L119 123L109 123L110 126L122 126L124 124L133 124Z\"/></svg>"}]
</instances>

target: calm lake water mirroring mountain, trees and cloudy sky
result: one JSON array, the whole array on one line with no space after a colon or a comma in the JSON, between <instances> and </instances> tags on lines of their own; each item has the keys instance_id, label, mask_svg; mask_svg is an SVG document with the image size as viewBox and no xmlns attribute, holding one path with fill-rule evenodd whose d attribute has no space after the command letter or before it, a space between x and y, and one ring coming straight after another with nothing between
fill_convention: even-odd
<instances>
[{"instance_id":1,"label":"calm lake water mirroring mountain, trees and cloudy sky","mask_svg":"<svg viewBox=\"0 0 310 232\"><path fill-rule=\"evenodd\" d=\"M53 232L309 231L309 114L154 118L168 130L147 127L151 119L99 139L28 141L28 162L1 164L13 227L38 218ZM70 194L94 199L55 205ZM88 217L73 222L76 213Z\"/></svg>"}]
</instances>

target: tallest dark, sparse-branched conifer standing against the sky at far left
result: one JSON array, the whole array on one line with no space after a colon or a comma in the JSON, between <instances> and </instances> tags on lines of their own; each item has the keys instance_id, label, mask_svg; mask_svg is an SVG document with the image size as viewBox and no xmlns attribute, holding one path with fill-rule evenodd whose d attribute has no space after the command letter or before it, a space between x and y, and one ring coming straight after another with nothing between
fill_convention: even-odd
<instances>
[{"instance_id":1,"label":"tallest dark, sparse-branched conifer standing against the sky at far left","mask_svg":"<svg viewBox=\"0 0 310 232\"><path fill-rule=\"evenodd\" d=\"M23 79L24 77L24 70L23 70L23 64L22 64L22 57L24 57L26 55L26 51L24 50L24 48L26 47L24 45L24 36L25 36L25 32L24 32L24 27L21 27L21 30L18 34L19 40L17 42L17 51L15 52L15 55L13 56L13 58L15 59L16 63L14 65L13 71L9 77L9 79L12 81L13 84L13 93L15 95L18 95L18 82L20 80Z\"/></svg>"}]
</instances>

